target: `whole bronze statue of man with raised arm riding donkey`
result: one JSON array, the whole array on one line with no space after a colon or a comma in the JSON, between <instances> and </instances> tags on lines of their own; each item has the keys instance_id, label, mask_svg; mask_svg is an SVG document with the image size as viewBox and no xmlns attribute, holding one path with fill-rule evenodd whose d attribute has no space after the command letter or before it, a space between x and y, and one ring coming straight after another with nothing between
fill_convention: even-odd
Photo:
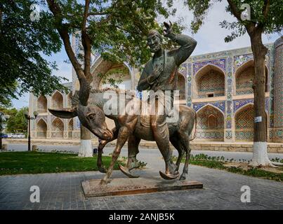
<instances>
[{"instance_id":1,"label":"whole bronze statue of man with raised arm riding donkey","mask_svg":"<svg viewBox=\"0 0 283 224\"><path fill-rule=\"evenodd\" d=\"M173 106L173 90L176 90L178 81L178 66L190 57L192 51L197 45L197 41L183 34L174 34L170 25L164 22L164 36L170 38L180 45L178 49L164 50L162 48L162 35L157 30L152 30L147 36L147 45L150 51L154 53L152 59L145 64L143 73L140 76L137 90L153 90L159 92L151 97L150 111L155 113L110 113L105 114L103 108L107 104L105 92L108 90L90 90L87 80L80 80L80 90L74 94L72 99L72 109L49 109L49 111L59 118L79 117L84 127L88 128L95 134L100 141L98 146L98 168L100 172L106 172L101 180L101 184L110 182L110 176L121 148L128 141L129 157L126 167L119 166L121 171L130 178L138 177L132 174L131 169L138 168L136 155L138 154L138 145L140 139L147 141L156 141L159 151L165 161L165 173L159 172L164 179L177 179L179 177L180 160L186 154L185 165L180 180L185 180L188 171L188 162L190 159L190 134L196 122L195 111L188 106L178 105L173 110L178 111L178 118L173 123L168 123L167 118L171 106ZM112 90L117 94L128 94L127 91ZM165 93L170 93L169 97L164 97ZM160 94L161 93L161 94ZM162 96L163 93L163 96ZM91 95L91 96L90 96ZM90 97L90 99L88 99ZM164 101L165 98L165 101ZM160 104L160 99L163 102ZM125 105L131 104L134 108L139 108L142 101L132 94L126 97ZM116 111L121 111L120 104L117 105ZM136 105L136 106L135 106ZM169 108L168 109L168 105ZM164 111L164 113L160 113ZM171 110L172 111L172 110ZM139 111L140 112L140 111ZM114 120L115 127L108 130L105 123L105 116ZM112 153L112 162L106 170L102 165L102 152L107 143L117 139L117 144ZM171 161L172 151L169 143L178 150L178 160L176 164Z\"/></svg>"}]
</instances>

